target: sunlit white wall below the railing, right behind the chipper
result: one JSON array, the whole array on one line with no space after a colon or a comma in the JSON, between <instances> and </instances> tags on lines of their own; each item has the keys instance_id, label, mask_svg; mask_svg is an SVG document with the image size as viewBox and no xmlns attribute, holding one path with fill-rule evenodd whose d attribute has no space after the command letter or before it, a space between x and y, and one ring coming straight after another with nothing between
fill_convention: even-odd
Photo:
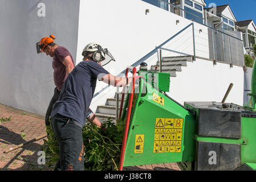
<instances>
[{"instance_id":1,"label":"sunlit white wall below the railing, right behind the chipper","mask_svg":"<svg viewBox=\"0 0 256 182\"><path fill-rule=\"evenodd\" d=\"M197 59L188 62L177 72L177 77L170 78L169 96L184 104L184 101L216 101L221 102L230 83L233 83L227 103L243 105L243 68L229 64Z\"/></svg>"}]
</instances>

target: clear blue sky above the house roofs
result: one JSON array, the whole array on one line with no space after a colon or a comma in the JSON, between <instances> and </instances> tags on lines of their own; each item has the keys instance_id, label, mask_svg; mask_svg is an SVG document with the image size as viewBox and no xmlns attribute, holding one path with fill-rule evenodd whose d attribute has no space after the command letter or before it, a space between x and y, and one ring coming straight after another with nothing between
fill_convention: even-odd
<instances>
[{"instance_id":1,"label":"clear blue sky above the house roofs","mask_svg":"<svg viewBox=\"0 0 256 182\"><path fill-rule=\"evenodd\" d=\"M253 19L256 23L256 0L205 0L206 6L216 3L217 6L229 5L237 21Z\"/></svg>"}]
</instances>

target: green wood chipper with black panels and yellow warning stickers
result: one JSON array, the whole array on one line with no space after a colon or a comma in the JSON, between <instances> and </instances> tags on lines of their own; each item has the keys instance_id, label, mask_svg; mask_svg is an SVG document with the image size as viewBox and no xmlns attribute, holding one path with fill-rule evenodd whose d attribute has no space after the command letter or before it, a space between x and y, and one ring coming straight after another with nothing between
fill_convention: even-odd
<instances>
[{"instance_id":1,"label":"green wood chipper with black panels and yellow warning stickers","mask_svg":"<svg viewBox=\"0 0 256 182\"><path fill-rule=\"evenodd\" d=\"M127 68L126 76L132 69ZM182 170L256 169L256 66L248 105L184 102L169 92L169 73L138 71L144 76L121 98L125 121L119 170L125 166L177 162ZM124 105L124 106L123 106Z\"/></svg>"}]
</instances>

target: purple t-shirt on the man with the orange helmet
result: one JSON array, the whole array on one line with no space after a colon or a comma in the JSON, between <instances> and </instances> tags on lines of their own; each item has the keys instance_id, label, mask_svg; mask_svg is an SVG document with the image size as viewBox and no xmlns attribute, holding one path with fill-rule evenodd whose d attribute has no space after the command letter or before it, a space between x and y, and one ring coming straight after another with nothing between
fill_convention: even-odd
<instances>
[{"instance_id":1,"label":"purple t-shirt on the man with the orange helmet","mask_svg":"<svg viewBox=\"0 0 256 182\"><path fill-rule=\"evenodd\" d=\"M63 64L64 58L70 56L74 64L74 60L70 51L65 47L59 46L54 51L54 57L52 59L52 68L54 69L54 83L58 90L62 89L64 81L66 79L66 66Z\"/></svg>"}]
</instances>

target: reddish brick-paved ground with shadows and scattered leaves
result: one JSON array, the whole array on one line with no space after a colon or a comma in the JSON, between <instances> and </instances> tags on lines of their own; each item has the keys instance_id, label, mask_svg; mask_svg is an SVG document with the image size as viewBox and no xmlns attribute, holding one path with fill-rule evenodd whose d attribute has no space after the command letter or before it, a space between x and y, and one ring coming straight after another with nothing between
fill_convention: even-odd
<instances>
[{"instance_id":1,"label":"reddish brick-paved ground with shadows and scattered leaves","mask_svg":"<svg viewBox=\"0 0 256 182\"><path fill-rule=\"evenodd\" d=\"M11 118L10 118L11 117ZM3 153L18 144L46 134L44 117L0 104L0 170L51 171L47 165L39 165L38 151L43 139L27 144L7 154ZM47 138L44 138L47 139ZM176 163L150 164L124 167L124 170L180 170Z\"/></svg>"}]
</instances>

